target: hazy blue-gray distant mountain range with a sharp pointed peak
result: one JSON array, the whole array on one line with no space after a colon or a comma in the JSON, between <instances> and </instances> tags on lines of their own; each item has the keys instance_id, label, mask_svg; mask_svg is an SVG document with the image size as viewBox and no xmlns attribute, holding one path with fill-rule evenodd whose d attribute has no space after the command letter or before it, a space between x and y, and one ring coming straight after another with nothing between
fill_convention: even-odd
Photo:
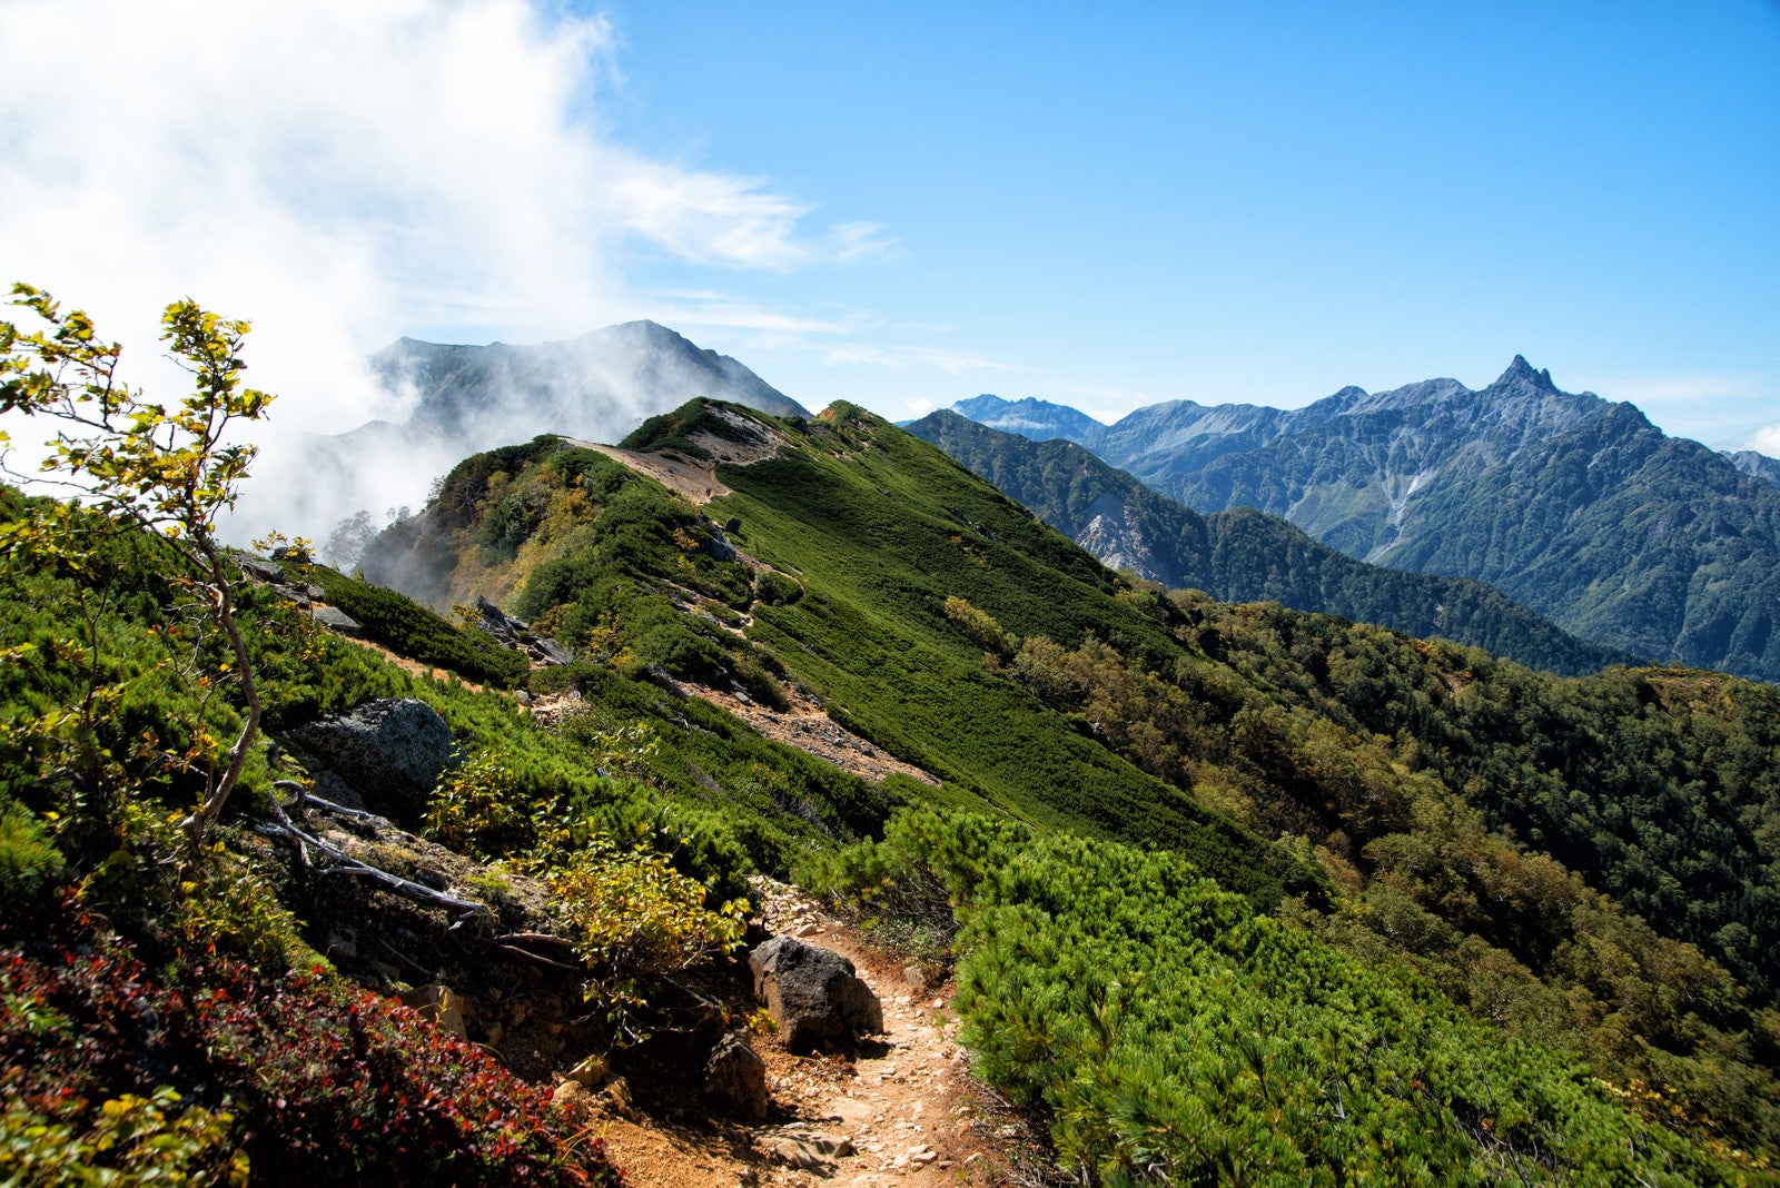
<instances>
[{"instance_id":1,"label":"hazy blue-gray distant mountain range with a sharp pointed peak","mask_svg":"<svg viewBox=\"0 0 1780 1188\"><path fill-rule=\"evenodd\" d=\"M1301 409L954 411L1075 441L1198 512L1251 507L1360 560L1488 582L1609 647L1780 681L1780 462L1668 437L1518 356L1479 391L1431 379Z\"/></svg>"}]
</instances>

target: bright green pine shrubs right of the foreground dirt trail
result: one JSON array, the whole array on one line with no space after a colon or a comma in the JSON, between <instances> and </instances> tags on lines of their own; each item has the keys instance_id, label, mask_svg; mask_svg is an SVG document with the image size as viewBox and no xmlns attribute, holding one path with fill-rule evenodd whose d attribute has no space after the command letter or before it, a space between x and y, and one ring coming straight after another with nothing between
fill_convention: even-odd
<instances>
[{"instance_id":1,"label":"bright green pine shrubs right of the foreground dirt trail","mask_svg":"<svg viewBox=\"0 0 1780 1188\"><path fill-rule=\"evenodd\" d=\"M817 875L867 902L945 889L977 1072L1048 1120L1084 1183L1768 1179L1711 1128L1627 1110L1630 1088L1175 854L910 811Z\"/></svg>"}]
</instances>

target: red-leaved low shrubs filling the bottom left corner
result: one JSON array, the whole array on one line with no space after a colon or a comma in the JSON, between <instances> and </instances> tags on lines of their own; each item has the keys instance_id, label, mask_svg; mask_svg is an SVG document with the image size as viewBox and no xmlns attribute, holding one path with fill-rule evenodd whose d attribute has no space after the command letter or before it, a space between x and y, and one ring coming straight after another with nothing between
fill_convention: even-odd
<instances>
[{"instance_id":1,"label":"red-leaved low shrubs filling the bottom left corner","mask_svg":"<svg viewBox=\"0 0 1780 1188\"><path fill-rule=\"evenodd\" d=\"M174 987L98 919L30 916L0 932L0 1183L623 1183L406 1007L230 960Z\"/></svg>"}]
</instances>

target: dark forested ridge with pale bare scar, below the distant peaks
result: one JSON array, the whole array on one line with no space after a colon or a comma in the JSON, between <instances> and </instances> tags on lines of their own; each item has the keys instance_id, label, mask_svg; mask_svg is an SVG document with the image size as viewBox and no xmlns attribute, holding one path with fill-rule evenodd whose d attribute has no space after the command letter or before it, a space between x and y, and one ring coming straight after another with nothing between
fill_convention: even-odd
<instances>
[{"instance_id":1,"label":"dark forested ridge with pale bare scar, below the distant peaks","mask_svg":"<svg viewBox=\"0 0 1780 1188\"><path fill-rule=\"evenodd\" d=\"M1630 658L1586 644L1481 582L1356 562L1290 523L1253 510L1198 516L1068 441L1031 443L933 413L908 427L1118 569L1223 601L1440 635L1522 663L1581 674Z\"/></svg>"}]
</instances>

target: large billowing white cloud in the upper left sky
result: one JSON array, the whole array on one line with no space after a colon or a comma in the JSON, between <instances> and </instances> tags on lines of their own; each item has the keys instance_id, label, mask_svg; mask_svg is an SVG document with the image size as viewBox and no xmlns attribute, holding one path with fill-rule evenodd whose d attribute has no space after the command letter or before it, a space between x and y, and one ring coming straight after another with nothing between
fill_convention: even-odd
<instances>
[{"instance_id":1,"label":"large billowing white cloud in the upper left sky","mask_svg":"<svg viewBox=\"0 0 1780 1188\"><path fill-rule=\"evenodd\" d=\"M404 333L538 341L637 317L627 251L783 270L874 237L806 235L806 208L756 180L614 144L614 34L552 4L0 0L0 283L91 311L126 377L169 397L169 301L251 318L271 454L402 420L413 393L365 357ZM406 464L379 480L424 491L438 461ZM276 519L271 486L249 484L249 519Z\"/></svg>"}]
</instances>

